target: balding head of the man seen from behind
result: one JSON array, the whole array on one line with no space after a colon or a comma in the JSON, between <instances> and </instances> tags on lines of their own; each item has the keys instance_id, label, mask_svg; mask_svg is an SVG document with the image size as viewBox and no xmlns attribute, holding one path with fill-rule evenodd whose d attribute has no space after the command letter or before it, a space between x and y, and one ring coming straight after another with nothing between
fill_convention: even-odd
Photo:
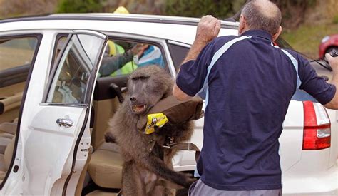
<instances>
[{"instance_id":1,"label":"balding head of the man seen from behind","mask_svg":"<svg viewBox=\"0 0 338 196\"><path fill-rule=\"evenodd\" d=\"M242 9L249 29L268 31L272 36L280 29L282 14L276 4L269 0L254 0Z\"/></svg>"}]
</instances>

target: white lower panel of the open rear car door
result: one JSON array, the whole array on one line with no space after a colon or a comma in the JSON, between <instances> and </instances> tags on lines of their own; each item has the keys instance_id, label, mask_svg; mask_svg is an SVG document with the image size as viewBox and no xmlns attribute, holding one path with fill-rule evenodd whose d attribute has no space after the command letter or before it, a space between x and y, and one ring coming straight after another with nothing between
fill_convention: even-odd
<instances>
[{"instance_id":1,"label":"white lower panel of the open rear car door","mask_svg":"<svg viewBox=\"0 0 338 196\"><path fill-rule=\"evenodd\" d=\"M31 113L34 118L25 130L29 136L24 140L24 192L51 195L51 185L71 172L65 165L67 159L73 157L72 149L85 122L87 108L41 105L36 110ZM73 119L73 127L59 127L56 119L63 117Z\"/></svg>"}]
</instances>

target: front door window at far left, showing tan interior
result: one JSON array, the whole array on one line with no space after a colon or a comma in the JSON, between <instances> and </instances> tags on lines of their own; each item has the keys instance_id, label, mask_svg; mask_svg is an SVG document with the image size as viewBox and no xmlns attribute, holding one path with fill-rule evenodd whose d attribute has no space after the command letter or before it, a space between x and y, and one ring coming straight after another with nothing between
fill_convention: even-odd
<instances>
[{"instance_id":1,"label":"front door window at far left, showing tan interior","mask_svg":"<svg viewBox=\"0 0 338 196\"><path fill-rule=\"evenodd\" d=\"M0 38L0 123L14 120L19 115L38 42L37 36Z\"/></svg>"}]
</instances>

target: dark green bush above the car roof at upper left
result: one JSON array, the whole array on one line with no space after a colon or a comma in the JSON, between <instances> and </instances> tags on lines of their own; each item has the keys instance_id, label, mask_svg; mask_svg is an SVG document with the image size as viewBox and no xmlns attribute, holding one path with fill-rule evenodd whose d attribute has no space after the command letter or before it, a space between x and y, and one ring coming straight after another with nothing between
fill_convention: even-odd
<instances>
[{"instance_id":1,"label":"dark green bush above the car roof at upper left","mask_svg":"<svg viewBox=\"0 0 338 196\"><path fill-rule=\"evenodd\" d=\"M100 0L61 0L58 3L58 13L101 12L103 6Z\"/></svg>"}]
</instances>

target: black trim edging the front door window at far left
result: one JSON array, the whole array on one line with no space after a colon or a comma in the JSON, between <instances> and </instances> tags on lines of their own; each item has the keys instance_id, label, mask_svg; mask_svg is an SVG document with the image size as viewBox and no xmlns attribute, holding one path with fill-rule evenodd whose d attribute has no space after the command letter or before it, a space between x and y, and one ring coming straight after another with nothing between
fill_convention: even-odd
<instances>
[{"instance_id":1,"label":"black trim edging the front door window at far left","mask_svg":"<svg viewBox=\"0 0 338 196\"><path fill-rule=\"evenodd\" d=\"M21 99L21 105L20 105L20 110L19 110L19 117L18 117L18 124L16 126L16 136L15 136L15 141L14 141L14 149L13 149L13 155L11 158L11 163L9 164L9 169L6 172L6 175L4 177L4 180L1 182L0 184L0 190L2 190L2 187L4 187L4 185L6 184L6 181L9 177L9 174L11 173L11 170L14 166L14 161L16 158L16 150L17 150L17 146L18 146L18 142L19 142L19 135L20 135L20 125L21 125L21 118L22 118L22 113L24 110L24 105L26 102L26 94L27 94L27 90L29 88L29 82L31 81L31 73L34 70L34 65L36 62L36 56L39 53L40 50L40 45L41 45L41 41L43 38L43 34L42 33L17 33L17 34L13 34L11 36L0 36L0 39L13 39L13 38L32 38L35 37L37 39L37 43L36 43L36 48L34 51L34 55L33 58L31 59L31 68L29 68L29 74L27 76L26 79L26 84L25 84L25 88L24 88L24 93L22 94L22 99ZM19 165L17 165L19 166ZM18 167L20 170L20 167ZM18 172L18 170L14 171L14 172Z\"/></svg>"}]
</instances>

